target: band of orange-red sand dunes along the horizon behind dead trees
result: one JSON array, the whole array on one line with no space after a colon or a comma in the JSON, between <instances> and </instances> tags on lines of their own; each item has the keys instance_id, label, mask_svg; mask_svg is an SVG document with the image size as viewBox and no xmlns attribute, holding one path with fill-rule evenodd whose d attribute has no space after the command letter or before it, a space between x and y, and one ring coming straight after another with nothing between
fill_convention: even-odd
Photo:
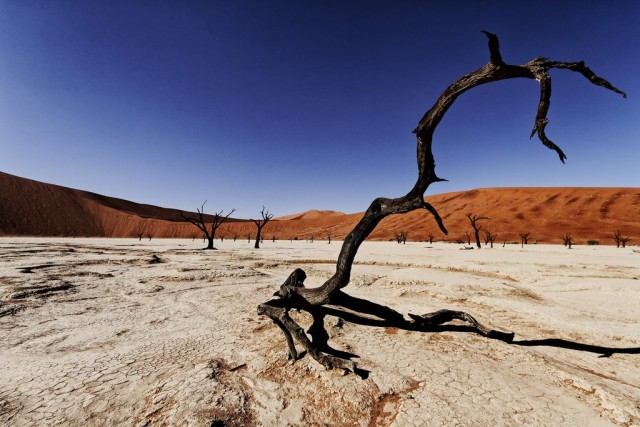
<instances>
[{"instance_id":1,"label":"band of orange-red sand dunes along the horizon behind dead trees","mask_svg":"<svg viewBox=\"0 0 640 427\"><path fill-rule=\"evenodd\" d=\"M373 240L392 239L407 231L409 240L466 239L471 232L466 214L487 216L483 229L497 234L496 242L519 241L519 233L531 233L531 242L560 243L571 233L575 244L598 240L613 244L620 230L640 243L640 188L488 188L428 196L440 213L449 235L442 234L426 211L386 218L371 234ZM366 206L363 206L366 208ZM347 235L362 213L308 211L272 220L265 239L301 240L313 236L325 240ZM45 184L0 172L0 236L135 237L201 236L180 220L175 209L141 205L95 193ZM229 219L218 235L247 239L255 235L248 220Z\"/></svg>"}]
</instances>

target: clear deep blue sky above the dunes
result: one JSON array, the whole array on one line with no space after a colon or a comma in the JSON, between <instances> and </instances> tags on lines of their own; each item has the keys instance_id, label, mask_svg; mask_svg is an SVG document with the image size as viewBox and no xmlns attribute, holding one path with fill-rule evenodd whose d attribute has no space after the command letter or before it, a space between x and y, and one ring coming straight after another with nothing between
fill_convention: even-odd
<instances>
[{"instance_id":1,"label":"clear deep blue sky above the dunes","mask_svg":"<svg viewBox=\"0 0 640 427\"><path fill-rule=\"evenodd\" d=\"M415 183L411 131L488 61L585 60L466 93L428 194L640 187L640 2L0 0L0 171L139 203L256 217L363 211ZM1 189L0 189L1 191Z\"/></svg>"}]
</instances>

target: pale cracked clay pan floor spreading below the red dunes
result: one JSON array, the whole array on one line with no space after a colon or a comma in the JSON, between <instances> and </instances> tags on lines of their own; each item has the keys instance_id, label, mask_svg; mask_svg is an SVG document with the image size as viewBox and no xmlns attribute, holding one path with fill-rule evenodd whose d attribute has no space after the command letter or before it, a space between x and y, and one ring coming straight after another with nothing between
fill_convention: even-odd
<instances>
[{"instance_id":1,"label":"pale cracked clay pan floor spreading below the red dunes","mask_svg":"<svg viewBox=\"0 0 640 427\"><path fill-rule=\"evenodd\" d=\"M637 247L365 242L354 296L405 314L465 310L516 343L564 341L329 318L362 380L287 362L282 333L256 314L296 267L322 284L341 242L216 243L0 239L0 425L640 423Z\"/></svg>"}]
</instances>

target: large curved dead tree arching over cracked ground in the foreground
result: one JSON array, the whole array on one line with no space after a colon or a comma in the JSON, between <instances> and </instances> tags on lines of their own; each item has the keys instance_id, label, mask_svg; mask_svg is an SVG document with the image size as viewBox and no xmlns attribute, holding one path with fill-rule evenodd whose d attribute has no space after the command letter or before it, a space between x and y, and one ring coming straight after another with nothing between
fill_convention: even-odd
<instances>
[{"instance_id":1,"label":"large curved dead tree arching over cracked ground in the foreground","mask_svg":"<svg viewBox=\"0 0 640 427\"><path fill-rule=\"evenodd\" d=\"M537 134L542 143L554 150L560 160L564 162L565 154L545 134L545 128L548 123L547 111L551 96L549 70L560 68L575 71L595 85L624 95L623 92L613 87L609 82L596 76L585 66L584 62L558 62L547 58L536 58L523 65L506 64L500 54L498 38L486 31L484 33L489 38L489 63L452 83L440 95L433 107L420 119L418 126L414 130L417 138L418 179L413 188L406 195L395 199L379 197L373 200L360 221L345 237L336 263L336 271L323 285L315 288L306 288L304 286L306 274L298 268L291 273L276 291L275 298L258 306L258 314L268 316L284 333L289 348L289 357L293 361L298 358L297 342L304 348L306 354L313 357L327 369L338 368L357 374L362 373L357 369L355 362L349 358L348 353L337 352L329 345L329 334L324 326L324 318L327 315L337 316L347 321L360 322L361 324L383 327L394 326L405 330L423 332L437 330L438 325L458 319L468 322L472 330L486 337L506 342L513 340L513 333L487 328L471 315L462 311L439 310L423 315L409 314L411 320L408 320L403 314L392 308L352 297L343 291L349 284L351 269L358 248L380 221L389 215L424 209L434 216L440 229L445 234L447 233L436 209L424 200L424 193L431 184L443 181L435 172L435 160L431 149L432 138L438 123L440 123L458 96L476 86L499 80L512 78L536 80L540 85L540 101L532 136ZM289 316L291 309L304 310L310 313L313 323L307 332Z\"/></svg>"}]
</instances>

